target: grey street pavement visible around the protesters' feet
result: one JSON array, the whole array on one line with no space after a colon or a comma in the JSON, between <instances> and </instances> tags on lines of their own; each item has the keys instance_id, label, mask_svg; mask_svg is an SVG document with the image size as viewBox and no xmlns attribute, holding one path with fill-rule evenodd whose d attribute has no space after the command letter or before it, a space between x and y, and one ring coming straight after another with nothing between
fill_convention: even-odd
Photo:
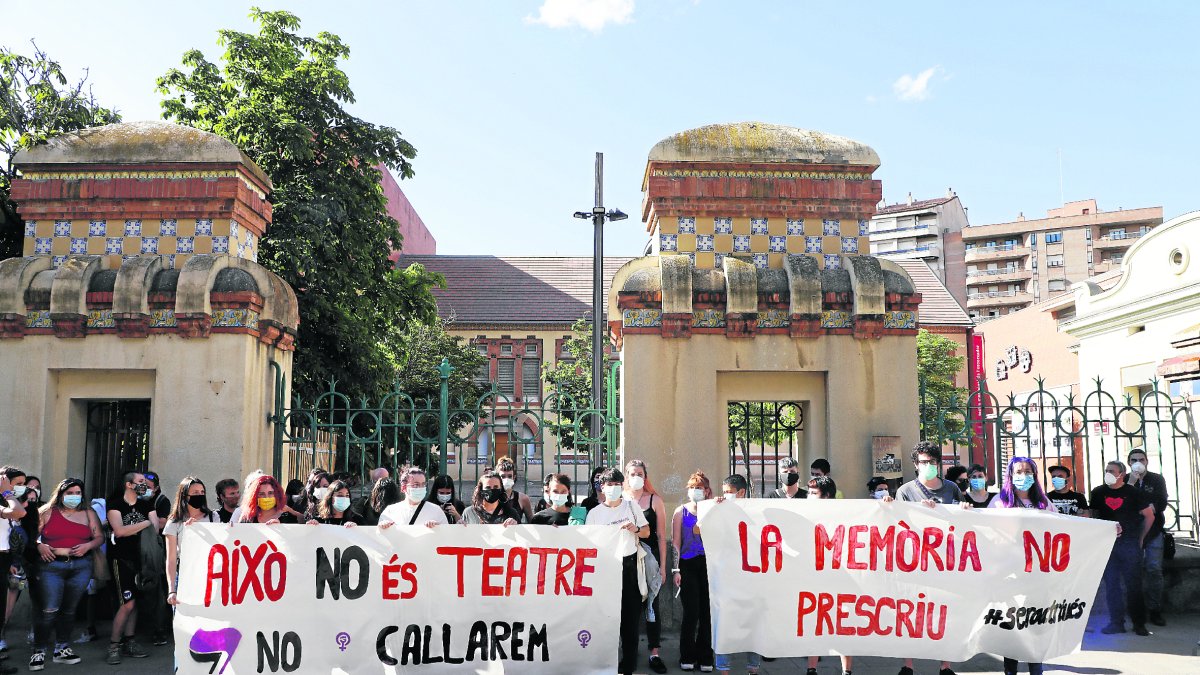
<instances>
[{"instance_id":1,"label":"grey street pavement visible around the protesters' feet","mask_svg":"<svg viewBox=\"0 0 1200 675\"><path fill-rule=\"evenodd\" d=\"M29 659L29 650L25 646L24 634L28 629L28 621L22 621L26 613L17 611L14 621L6 631L10 638L10 658L5 663L19 668L26 673L25 665ZM1169 615L1169 626L1152 626L1153 633L1148 638L1140 638L1132 632L1123 635L1104 635L1099 632L1103 617L1093 615L1088 622L1088 632L1084 637L1084 649L1081 652L1057 658L1052 663L1046 663L1045 671L1049 674L1072 673L1087 675L1200 675L1200 614L1176 614ZM13 640L13 638L17 638ZM104 653L108 641L100 641L74 645L76 652L83 658L78 665L60 665L55 663L46 664L46 673L64 673L77 675L91 675L92 673L113 674L169 674L173 671L172 646L152 646L149 640L143 643L150 651L148 658L126 658L120 665L104 664ZM662 645L662 658L666 661L670 673L679 673L678 640L666 639ZM652 673L644 667L649 652L646 650L643 639L640 651L643 670L640 674ZM745 658L734 659L732 673L745 673ZM205 665L206 668L206 665ZM854 659L854 675L895 675L900 669L900 659L883 657L859 657ZM805 662L800 658L782 658L770 663L764 663L760 673L762 675L800 674L805 670ZM302 671L302 669L301 669ZM379 673L378 664L366 664L365 673ZM836 657L824 657L817 667L821 675L840 675ZM917 675L937 675L937 662L918 661L916 664ZM954 664L955 673L1001 675L1001 661L998 657L979 655L966 663ZM1026 673L1025 664L1021 664L1021 673ZM520 673L514 669L512 673ZM564 674L570 675L570 674Z\"/></svg>"}]
</instances>

